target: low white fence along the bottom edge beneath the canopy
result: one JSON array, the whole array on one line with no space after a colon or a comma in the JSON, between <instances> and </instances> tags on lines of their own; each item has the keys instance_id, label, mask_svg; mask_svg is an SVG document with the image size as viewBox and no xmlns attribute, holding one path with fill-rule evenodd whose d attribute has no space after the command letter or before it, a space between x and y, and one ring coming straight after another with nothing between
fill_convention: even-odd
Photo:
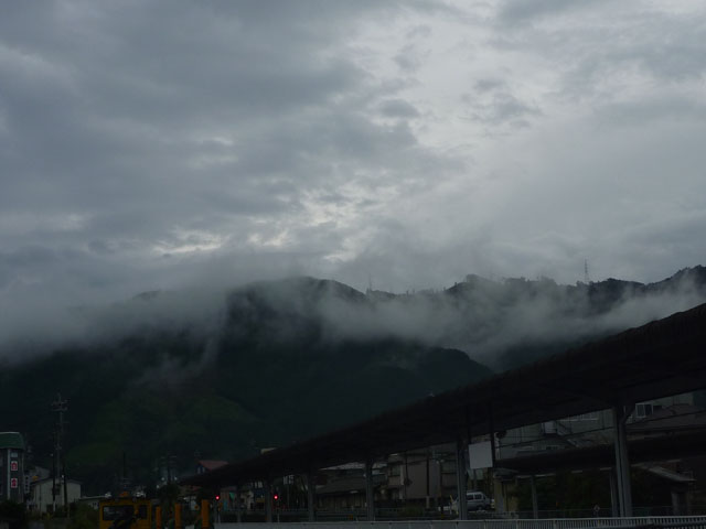
<instances>
[{"instance_id":1,"label":"low white fence along the bottom edge beneath the canopy","mask_svg":"<svg viewBox=\"0 0 706 529\"><path fill-rule=\"evenodd\" d=\"M706 516L648 516L639 518L556 518L543 520L427 520L322 521L284 523L216 523L215 529L612 529L673 526L706 529Z\"/></svg>"}]
</instances>

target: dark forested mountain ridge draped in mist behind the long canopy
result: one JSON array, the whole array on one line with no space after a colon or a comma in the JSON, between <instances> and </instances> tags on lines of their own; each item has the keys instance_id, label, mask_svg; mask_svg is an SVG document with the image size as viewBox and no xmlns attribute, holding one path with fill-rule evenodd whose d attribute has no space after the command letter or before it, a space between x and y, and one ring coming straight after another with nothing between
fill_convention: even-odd
<instances>
[{"instance_id":1,"label":"dark forested mountain ridge draped in mist behind the long canopy","mask_svg":"<svg viewBox=\"0 0 706 529\"><path fill-rule=\"evenodd\" d=\"M89 336L0 373L1 430L47 465L56 391L72 477L110 488L122 456L149 484L168 460L235 460L488 377L706 300L706 269L652 284L469 276L438 292L362 293L312 278L210 295L150 292L95 313ZM475 361L471 358L475 358Z\"/></svg>"}]
</instances>

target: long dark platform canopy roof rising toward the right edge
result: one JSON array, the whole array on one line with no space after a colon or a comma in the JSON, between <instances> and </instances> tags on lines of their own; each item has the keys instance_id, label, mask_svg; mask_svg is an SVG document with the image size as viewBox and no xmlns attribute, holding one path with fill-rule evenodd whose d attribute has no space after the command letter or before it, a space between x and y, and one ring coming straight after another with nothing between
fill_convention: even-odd
<instances>
[{"instance_id":1,"label":"long dark platform canopy roof rising toward the right edge","mask_svg":"<svg viewBox=\"0 0 706 529\"><path fill-rule=\"evenodd\" d=\"M222 486L303 474L702 389L705 348L703 304L182 483Z\"/></svg>"}]
</instances>

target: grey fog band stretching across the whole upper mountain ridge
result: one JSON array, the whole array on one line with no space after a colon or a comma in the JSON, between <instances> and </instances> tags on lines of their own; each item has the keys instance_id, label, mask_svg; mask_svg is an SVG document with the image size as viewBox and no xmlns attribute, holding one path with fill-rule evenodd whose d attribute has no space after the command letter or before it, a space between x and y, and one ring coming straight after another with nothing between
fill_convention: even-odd
<instances>
[{"instance_id":1,"label":"grey fog band stretching across the whole upper mountain ridge","mask_svg":"<svg viewBox=\"0 0 706 529\"><path fill-rule=\"evenodd\" d=\"M131 336L189 333L207 361L223 333L250 333L280 345L387 338L457 348L494 369L687 310L706 301L706 269L660 283L607 280L560 285L550 279L491 281L469 276L442 291L362 293L335 281L293 278L235 289L146 292L81 307L46 304L31 319L22 307L0 326L2 357L90 350ZM36 307L33 307L36 309ZM208 354L207 350L211 350Z\"/></svg>"}]
</instances>

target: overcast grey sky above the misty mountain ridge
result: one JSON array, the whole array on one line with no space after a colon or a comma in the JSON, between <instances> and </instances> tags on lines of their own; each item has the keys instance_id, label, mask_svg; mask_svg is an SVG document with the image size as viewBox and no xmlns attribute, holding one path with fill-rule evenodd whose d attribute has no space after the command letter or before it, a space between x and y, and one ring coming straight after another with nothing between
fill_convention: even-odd
<instances>
[{"instance_id":1,"label":"overcast grey sky above the misty mountain ridge","mask_svg":"<svg viewBox=\"0 0 706 529\"><path fill-rule=\"evenodd\" d=\"M705 2L2 6L2 311L660 280L706 263L704 168Z\"/></svg>"}]
</instances>

